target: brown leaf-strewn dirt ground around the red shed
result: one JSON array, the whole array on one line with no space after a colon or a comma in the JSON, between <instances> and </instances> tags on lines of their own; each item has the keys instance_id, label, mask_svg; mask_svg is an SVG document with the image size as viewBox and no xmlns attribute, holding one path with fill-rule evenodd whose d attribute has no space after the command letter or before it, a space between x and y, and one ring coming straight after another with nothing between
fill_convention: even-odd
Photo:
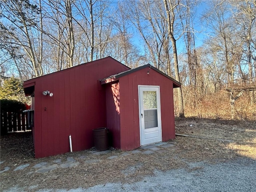
<instances>
[{"instance_id":1,"label":"brown leaf-strewn dirt ground around the red shed","mask_svg":"<svg viewBox=\"0 0 256 192\"><path fill-rule=\"evenodd\" d=\"M155 170L167 171L175 168L188 168L189 162L226 162L238 157L256 159L256 122L210 120L198 118L176 118L176 133L198 137L233 140L225 142L214 139L176 136L168 142L174 148L166 148L164 152L150 155L141 153L120 156L120 150L100 155L99 162L86 164L85 160L95 158L91 150L66 153L48 158L35 159L32 136L30 132L1 136L0 158L3 162L1 170L8 166L13 170L17 165L29 163L34 166L39 162L53 162L72 156L79 164L72 168L58 168L43 174L31 172L25 168L16 172L1 173L0 191L12 186L21 186L27 191L39 190L47 186L58 188L88 188L107 182L132 183L140 181L147 175L154 175ZM107 159L117 155L119 158ZM86 156L85 159L79 158ZM129 173L130 168L136 168ZM198 167L198 169L200 169ZM34 186L34 188L30 188Z\"/></svg>"}]
</instances>

